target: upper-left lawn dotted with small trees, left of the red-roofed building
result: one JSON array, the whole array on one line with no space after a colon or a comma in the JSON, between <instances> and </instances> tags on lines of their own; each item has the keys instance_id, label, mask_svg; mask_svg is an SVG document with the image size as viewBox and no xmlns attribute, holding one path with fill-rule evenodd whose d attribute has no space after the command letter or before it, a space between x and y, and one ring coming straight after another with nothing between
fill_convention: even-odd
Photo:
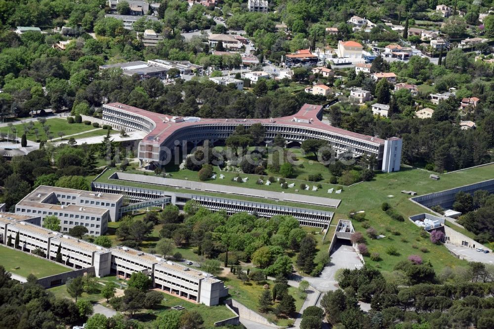
<instances>
[{"instance_id":1,"label":"upper-left lawn dotted with small trees, left of the red-roofed building","mask_svg":"<svg viewBox=\"0 0 494 329\"><path fill-rule=\"evenodd\" d=\"M84 132L87 130L92 130L95 129L91 124L84 124L84 123L68 123L67 119L60 119L60 118L54 118L54 119L49 119L46 120L46 123L44 124L45 126L49 126L50 130L49 133L53 135L53 138L58 138L58 132L63 131L64 135L72 135L76 134L79 132ZM20 124L15 124L12 127L15 127L17 130L17 136L21 137L22 134L24 133L24 126L28 126L28 123L20 123ZM2 127L0 128L0 131L2 132L7 132L9 127ZM43 126L41 123L38 121L34 122L33 128L27 133L26 137L30 141L36 141L36 133L35 129L38 129L38 135L41 140L46 140L46 133L43 130ZM103 129L101 129L103 131Z\"/></svg>"}]
</instances>

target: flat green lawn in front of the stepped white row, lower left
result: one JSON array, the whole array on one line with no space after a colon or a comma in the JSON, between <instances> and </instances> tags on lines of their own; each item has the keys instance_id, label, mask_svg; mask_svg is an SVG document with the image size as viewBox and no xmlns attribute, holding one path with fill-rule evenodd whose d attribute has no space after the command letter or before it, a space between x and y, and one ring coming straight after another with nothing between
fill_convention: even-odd
<instances>
[{"instance_id":1,"label":"flat green lawn in front of the stepped white row, lower left","mask_svg":"<svg viewBox=\"0 0 494 329\"><path fill-rule=\"evenodd\" d=\"M0 265L11 273L27 277L34 274L37 278L71 271L70 268L44 260L20 250L12 250L0 245ZM16 268L19 267L19 268Z\"/></svg>"}]
</instances>

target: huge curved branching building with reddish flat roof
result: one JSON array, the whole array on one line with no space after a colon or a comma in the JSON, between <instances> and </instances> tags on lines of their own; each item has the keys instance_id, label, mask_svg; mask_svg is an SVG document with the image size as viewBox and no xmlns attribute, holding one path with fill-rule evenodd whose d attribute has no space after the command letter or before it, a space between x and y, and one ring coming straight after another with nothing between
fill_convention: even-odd
<instances>
[{"instance_id":1,"label":"huge curved branching building with reddish flat roof","mask_svg":"<svg viewBox=\"0 0 494 329\"><path fill-rule=\"evenodd\" d=\"M305 104L293 116L271 119L200 119L173 122L171 116L150 112L122 103L103 104L103 120L116 129L143 130L148 135L139 143L140 165L163 166L172 159L178 144L194 144L209 140L214 143L226 139L235 128L261 123L266 128L265 138L272 140L280 134L289 142L306 139L327 140L337 155L352 154L355 158L374 155L377 168L384 172L400 170L402 139L387 140L351 132L323 123L322 106ZM178 143L178 144L177 144Z\"/></svg>"}]
</instances>

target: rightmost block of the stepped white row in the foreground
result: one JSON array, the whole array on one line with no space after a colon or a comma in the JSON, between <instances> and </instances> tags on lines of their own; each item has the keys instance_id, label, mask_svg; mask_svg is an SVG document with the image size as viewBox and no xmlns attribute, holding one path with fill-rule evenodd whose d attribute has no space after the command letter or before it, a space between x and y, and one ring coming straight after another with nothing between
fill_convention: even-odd
<instances>
[{"instance_id":1,"label":"rightmost block of the stepped white row in the foreground","mask_svg":"<svg viewBox=\"0 0 494 329\"><path fill-rule=\"evenodd\" d=\"M171 261L155 265L154 286L207 306L217 305L228 295L228 288L211 274Z\"/></svg>"}]
</instances>

